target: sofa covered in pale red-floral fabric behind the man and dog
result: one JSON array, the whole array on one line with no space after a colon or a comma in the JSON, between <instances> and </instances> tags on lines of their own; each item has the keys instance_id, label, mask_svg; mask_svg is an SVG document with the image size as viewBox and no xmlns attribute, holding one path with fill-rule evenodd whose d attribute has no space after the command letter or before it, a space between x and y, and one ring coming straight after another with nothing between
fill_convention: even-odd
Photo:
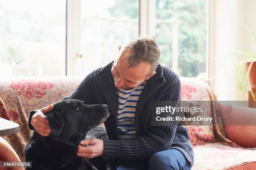
<instances>
[{"instance_id":1,"label":"sofa covered in pale red-floral fabric behind the man and dog","mask_svg":"<svg viewBox=\"0 0 256 170\"><path fill-rule=\"evenodd\" d=\"M64 76L0 80L0 117L20 124L19 133L2 137L17 153L20 160L24 161L23 149L31 134L27 126L29 111L68 96L82 79L83 77ZM217 112L220 107L215 102L215 94L210 85L195 78L180 77L180 79L182 100L211 101L208 114L213 117L213 122L218 124L185 126L195 152L195 164L192 170L256 170L255 148L241 147L228 139L223 116L221 112Z\"/></svg>"}]
</instances>

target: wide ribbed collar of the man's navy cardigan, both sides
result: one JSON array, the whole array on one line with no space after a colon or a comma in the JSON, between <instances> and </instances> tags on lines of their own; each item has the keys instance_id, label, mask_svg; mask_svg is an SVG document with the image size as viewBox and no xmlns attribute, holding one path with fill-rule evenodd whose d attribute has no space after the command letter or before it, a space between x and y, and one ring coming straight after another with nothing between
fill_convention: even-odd
<instances>
[{"instance_id":1,"label":"wide ribbed collar of the man's navy cardigan, both sides","mask_svg":"<svg viewBox=\"0 0 256 170\"><path fill-rule=\"evenodd\" d=\"M110 110L113 112L116 121L118 120L118 96L116 93L116 87L114 84L114 78L111 73L111 68L113 66L114 61L109 63L107 66L103 67L101 71L95 74L94 78L99 84L102 92L108 102ZM163 69L160 64L156 67L156 74L147 80L147 84L141 92L141 96L138 99L136 106L136 114L135 114L135 123L138 120L141 109L144 104L148 100L149 96L155 91L157 88L162 86L165 82L163 76Z\"/></svg>"}]
</instances>

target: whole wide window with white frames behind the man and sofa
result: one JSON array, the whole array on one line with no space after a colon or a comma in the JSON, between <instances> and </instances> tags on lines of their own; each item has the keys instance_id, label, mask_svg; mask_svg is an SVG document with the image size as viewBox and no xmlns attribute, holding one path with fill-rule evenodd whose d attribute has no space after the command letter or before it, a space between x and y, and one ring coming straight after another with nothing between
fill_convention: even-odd
<instances>
[{"instance_id":1,"label":"whole wide window with white frames behind the man and sofa","mask_svg":"<svg viewBox=\"0 0 256 170\"><path fill-rule=\"evenodd\" d=\"M113 61L120 45L148 34L156 37L161 65L206 78L207 3L0 0L0 75L84 76Z\"/></svg>"}]
</instances>

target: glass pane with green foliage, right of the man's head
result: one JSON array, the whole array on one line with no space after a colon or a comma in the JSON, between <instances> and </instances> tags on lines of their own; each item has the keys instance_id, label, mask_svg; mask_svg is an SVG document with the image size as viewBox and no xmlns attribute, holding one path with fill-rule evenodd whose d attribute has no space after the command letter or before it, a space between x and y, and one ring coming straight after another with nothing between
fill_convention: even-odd
<instances>
[{"instance_id":1,"label":"glass pane with green foliage, right of the man's head","mask_svg":"<svg viewBox=\"0 0 256 170\"><path fill-rule=\"evenodd\" d=\"M179 76L206 71L207 0L156 0L160 63Z\"/></svg>"}]
</instances>

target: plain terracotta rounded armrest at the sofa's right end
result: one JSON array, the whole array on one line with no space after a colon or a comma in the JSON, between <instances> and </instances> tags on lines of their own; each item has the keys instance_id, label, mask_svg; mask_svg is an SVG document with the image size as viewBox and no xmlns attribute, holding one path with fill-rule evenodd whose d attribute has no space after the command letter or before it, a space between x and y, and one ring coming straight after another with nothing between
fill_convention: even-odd
<instances>
[{"instance_id":1,"label":"plain terracotta rounded armrest at the sofa's right end","mask_svg":"<svg viewBox=\"0 0 256 170\"><path fill-rule=\"evenodd\" d=\"M220 104L228 139L242 147L256 147L256 109Z\"/></svg>"}]
</instances>

